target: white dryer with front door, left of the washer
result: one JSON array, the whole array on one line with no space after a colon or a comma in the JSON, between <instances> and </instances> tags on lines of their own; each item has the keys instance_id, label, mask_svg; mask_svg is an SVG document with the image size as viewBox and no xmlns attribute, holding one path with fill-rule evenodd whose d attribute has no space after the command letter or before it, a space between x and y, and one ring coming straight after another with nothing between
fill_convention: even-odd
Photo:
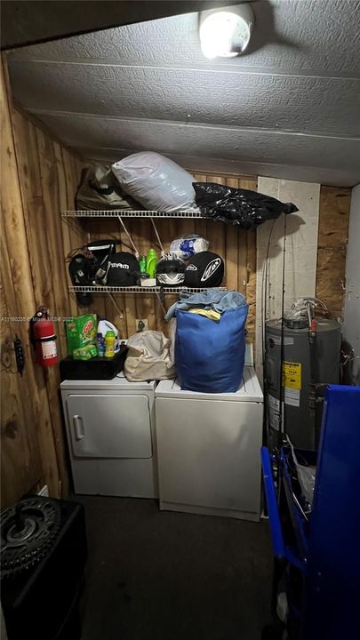
<instances>
[{"instance_id":1,"label":"white dryer with front door, left of the washer","mask_svg":"<svg viewBox=\"0 0 360 640\"><path fill-rule=\"evenodd\" d=\"M60 385L76 493L157 497L156 382Z\"/></svg>"}]
</instances>

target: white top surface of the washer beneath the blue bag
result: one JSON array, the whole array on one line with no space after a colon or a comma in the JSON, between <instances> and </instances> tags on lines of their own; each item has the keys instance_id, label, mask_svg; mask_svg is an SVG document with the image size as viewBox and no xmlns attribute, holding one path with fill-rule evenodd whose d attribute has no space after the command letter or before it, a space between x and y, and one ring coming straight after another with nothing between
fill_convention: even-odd
<instances>
[{"instance_id":1,"label":"white top surface of the washer beneath the blue bag","mask_svg":"<svg viewBox=\"0 0 360 640\"><path fill-rule=\"evenodd\" d=\"M231 400L239 402L263 402L263 395L255 369L252 366L244 366L243 384L234 393L200 393L198 391L186 391L180 388L180 381L161 380L155 390L156 397L182 397L186 399L201 400Z\"/></svg>"}]
</instances>

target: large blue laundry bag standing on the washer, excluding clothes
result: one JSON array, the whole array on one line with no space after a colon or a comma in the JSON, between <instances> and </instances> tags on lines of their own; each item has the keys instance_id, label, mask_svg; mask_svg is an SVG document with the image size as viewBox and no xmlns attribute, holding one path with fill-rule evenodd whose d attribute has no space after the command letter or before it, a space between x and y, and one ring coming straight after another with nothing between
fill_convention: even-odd
<instances>
[{"instance_id":1,"label":"large blue laundry bag standing on the washer, excluding clothes","mask_svg":"<svg viewBox=\"0 0 360 640\"><path fill-rule=\"evenodd\" d=\"M219 322L176 311L176 368L182 389L202 393L235 392L241 385L248 306L228 308Z\"/></svg>"}]
</instances>

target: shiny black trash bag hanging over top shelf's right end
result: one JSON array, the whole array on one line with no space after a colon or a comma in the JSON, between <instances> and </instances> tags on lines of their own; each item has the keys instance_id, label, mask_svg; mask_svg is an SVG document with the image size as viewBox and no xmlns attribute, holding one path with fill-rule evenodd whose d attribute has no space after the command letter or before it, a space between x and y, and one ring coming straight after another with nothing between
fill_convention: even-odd
<instances>
[{"instance_id":1,"label":"shiny black trash bag hanging over top shelf's right end","mask_svg":"<svg viewBox=\"0 0 360 640\"><path fill-rule=\"evenodd\" d=\"M257 191L215 182L193 182L193 187L196 204L204 216L244 229L258 227L266 220L276 220L282 213L299 211L295 204L284 204Z\"/></svg>"}]
</instances>

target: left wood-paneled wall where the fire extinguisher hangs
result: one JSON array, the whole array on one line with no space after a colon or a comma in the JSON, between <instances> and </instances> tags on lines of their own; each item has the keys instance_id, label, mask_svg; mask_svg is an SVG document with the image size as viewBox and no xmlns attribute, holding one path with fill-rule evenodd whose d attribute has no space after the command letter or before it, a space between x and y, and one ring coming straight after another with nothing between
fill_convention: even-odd
<instances>
[{"instance_id":1,"label":"left wood-paneled wall where the fire extinguisher hangs","mask_svg":"<svg viewBox=\"0 0 360 640\"><path fill-rule=\"evenodd\" d=\"M52 496L68 492L63 425L58 398L59 368L34 363L28 318L44 304L56 323L59 356L66 355L62 317L77 313L69 300L64 246L78 242L64 229L61 208L73 206L80 164L12 108L1 75L2 234L1 460L2 504L36 485ZM26 364L16 371L12 340L20 337Z\"/></svg>"}]
</instances>

